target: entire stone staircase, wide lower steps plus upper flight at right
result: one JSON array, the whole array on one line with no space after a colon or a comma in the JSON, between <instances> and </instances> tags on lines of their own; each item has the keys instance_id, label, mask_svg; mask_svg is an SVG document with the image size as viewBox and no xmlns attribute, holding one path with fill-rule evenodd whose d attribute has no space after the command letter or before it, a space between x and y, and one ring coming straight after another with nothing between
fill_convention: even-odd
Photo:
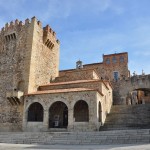
<instances>
[{"instance_id":1,"label":"entire stone staircase, wide lower steps plus upper flight at right","mask_svg":"<svg viewBox=\"0 0 150 150\"><path fill-rule=\"evenodd\" d=\"M47 145L150 143L150 104L113 106L111 113L107 116L106 123L100 130L103 131L0 132L0 143Z\"/></svg>"}]
</instances>

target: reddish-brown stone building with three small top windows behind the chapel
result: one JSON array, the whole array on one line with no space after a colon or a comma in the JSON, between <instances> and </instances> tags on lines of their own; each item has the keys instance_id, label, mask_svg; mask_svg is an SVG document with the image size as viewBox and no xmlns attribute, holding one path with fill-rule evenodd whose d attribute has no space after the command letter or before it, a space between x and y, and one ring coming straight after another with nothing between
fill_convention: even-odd
<instances>
[{"instance_id":1,"label":"reddish-brown stone building with three small top windows behind the chapel","mask_svg":"<svg viewBox=\"0 0 150 150\"><path fill-rule=\"evenodd\" d=\"M127 78L129 77L128 53L103 55L102 63L83 65L83 68L94 69L100 77L110 81L114 80L114 72L118 72L119 79Z\"/></svg>"}]
</instances>

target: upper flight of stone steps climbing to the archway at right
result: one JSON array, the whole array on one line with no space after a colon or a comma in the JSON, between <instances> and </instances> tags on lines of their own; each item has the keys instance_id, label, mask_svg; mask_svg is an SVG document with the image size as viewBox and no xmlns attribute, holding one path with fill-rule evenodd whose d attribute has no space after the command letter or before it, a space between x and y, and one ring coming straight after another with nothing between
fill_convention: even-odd
<instances>
[{"instance_id":1,"label":"upper flight of stone steps climbing to the archway at right","mask_svg":"<svg viewBox=\"0 0 150 150\"><path fill-rule=\"evenodd\" d=\"M107 115L105 130L150 129L150 104L114 105Z\"/></svg>"}]
</instances>

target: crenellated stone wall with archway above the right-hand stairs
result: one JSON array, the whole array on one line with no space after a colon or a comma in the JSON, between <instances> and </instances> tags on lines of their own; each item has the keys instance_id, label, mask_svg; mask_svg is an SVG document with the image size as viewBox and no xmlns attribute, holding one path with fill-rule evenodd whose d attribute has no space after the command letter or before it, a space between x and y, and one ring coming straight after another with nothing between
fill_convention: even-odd
<instances>
[{"instance_id":1,"label":"crenellated stone wall with archway above the right-hand stairs","mask_svg":"<svg viewBox=\"0 0 150 150\"><path fill-rule=\"evenodd\" d=\"M112 82L114 104L127 104L129 94L134 90L150 91L150 75L132 76L130 78ZM144 98L144 97L143 97ZM146 101L148 101L146 98Z\"/></svg>"}]
</instances>

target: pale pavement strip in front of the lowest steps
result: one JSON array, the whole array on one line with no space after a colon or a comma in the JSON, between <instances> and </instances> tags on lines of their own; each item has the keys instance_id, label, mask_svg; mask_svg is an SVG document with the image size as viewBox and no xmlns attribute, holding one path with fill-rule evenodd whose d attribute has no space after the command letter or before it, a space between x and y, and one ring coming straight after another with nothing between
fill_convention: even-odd
<instances>
[{"instance_id":1,"label":"pale pavement strip in front of the lowest steps","mask_svg":"<svg viewBox=\"0 0 150 150\"><path fill-rule=\"evenodd\" d=\"M142 145L27 145L0 143L0 150L150 150Z\"/></svg>"}]
</instances>

